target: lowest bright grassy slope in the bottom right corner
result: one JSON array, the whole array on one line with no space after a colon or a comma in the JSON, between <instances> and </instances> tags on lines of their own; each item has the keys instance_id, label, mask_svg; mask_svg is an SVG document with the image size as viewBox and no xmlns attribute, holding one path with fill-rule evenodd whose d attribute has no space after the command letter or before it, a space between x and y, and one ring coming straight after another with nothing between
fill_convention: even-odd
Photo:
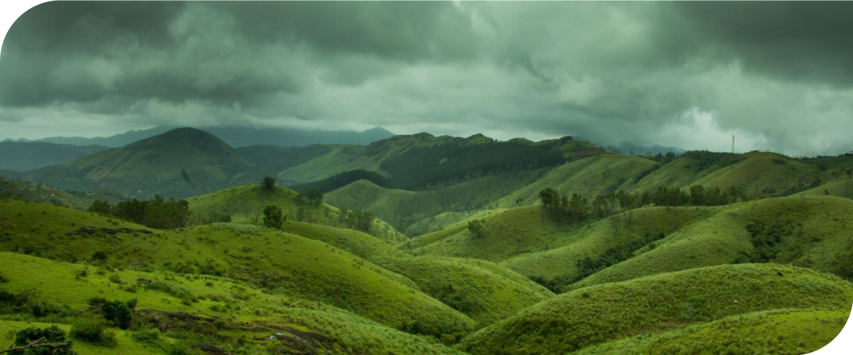
<instances>
[{"instance_id":1,"label":"lowest bright grassy slope in the bottom right corner","mask_svg":"<svg viewBox=\"0 0 853 355\"><path fill-rule=\"evenodd\" d=\"M694 354L817 352L838 335L850 312L770 311L722 318L651 336L590 346L577 354ZM837 346L840 346L838 344Z\"/></svg>"}]
</instances>

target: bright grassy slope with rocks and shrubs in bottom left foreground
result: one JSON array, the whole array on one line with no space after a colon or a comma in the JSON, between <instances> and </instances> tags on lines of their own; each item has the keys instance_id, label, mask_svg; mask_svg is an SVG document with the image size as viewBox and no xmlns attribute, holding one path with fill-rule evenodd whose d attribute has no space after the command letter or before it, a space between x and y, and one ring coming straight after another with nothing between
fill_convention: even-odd
<instances>
[{"instance_id":1,"label":"bright grassy slope with rocks and shrubs in bottom left foreground","mask_svg":"<svg viewBox=\"0 0 853 355\"><path fill-rule=\"evenodd\" d=\"M13 293L38 289L41 300L76 310L90 309L88 302L94 297L136 298L139 301L136 307L138 324L148 324L164 335L193 346L208 345L208 350L219 349L219 353L457 353L351 312L316 301L270 295L227 278L129 270L104 270L101 274L96 270L102 269L91 266L28 255L0 253L0 258L9 261L0 263L0 273L9 278L9 283L0 283L0 289ZM90 270L87 276L75 277L87 269ZM159 286L146 286L152 283ZM73 321L63 318L50 322L69 324ZM0 320L0 329L20 326L18 322ZM68 328L67 325L61 327ZM279 335L270 338L276 334ZM119 346L113 349L79 343L75 348L81 353L165 353L130 341L126 335L118 332ZM92 352L86 352L88 350Z\"/></svg>"}]
</instances>

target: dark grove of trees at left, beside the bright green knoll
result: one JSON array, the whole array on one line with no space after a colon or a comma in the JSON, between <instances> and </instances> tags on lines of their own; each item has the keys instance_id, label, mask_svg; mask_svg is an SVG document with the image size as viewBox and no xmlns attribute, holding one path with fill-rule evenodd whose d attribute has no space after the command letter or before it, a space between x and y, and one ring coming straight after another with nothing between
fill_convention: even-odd
<instances>
[{"instance_id":1,"label":"dark grove of trees at left, beside the bright green knoll","mask_svg":"<svg viewBox=\"0 0 853 355\"><path fill-rule=\"evenodd\" d=\"M155 196L150 201L140 201L136 198L125 200L115 207L108 202L95 201L89 211L102 215L113 215L122 220L130 220L134 223L160 229L187 226L191 215L187 200L169 198L166 201L161 196Z\"/></svg>"}]
</instances>

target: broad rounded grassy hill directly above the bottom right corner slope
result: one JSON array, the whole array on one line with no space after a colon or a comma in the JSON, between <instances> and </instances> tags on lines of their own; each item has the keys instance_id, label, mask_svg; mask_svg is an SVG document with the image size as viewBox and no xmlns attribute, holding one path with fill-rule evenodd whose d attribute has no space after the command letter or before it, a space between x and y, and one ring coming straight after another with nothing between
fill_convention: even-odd
<instances>
[{"instance_id":1,"label":"broad rounded grassy hill directly above the bottom right corner slope","mask_svg":"<svg viewBox=\"0 0 853 355\"><path fill-rule=\"evenodd\" d=\"M833 276L791 266L714 266L577 289L482 329L459 348L472 354L568 353L739 314L849 314L851 306L853 284Z\"/></svg>"}]
</instances>

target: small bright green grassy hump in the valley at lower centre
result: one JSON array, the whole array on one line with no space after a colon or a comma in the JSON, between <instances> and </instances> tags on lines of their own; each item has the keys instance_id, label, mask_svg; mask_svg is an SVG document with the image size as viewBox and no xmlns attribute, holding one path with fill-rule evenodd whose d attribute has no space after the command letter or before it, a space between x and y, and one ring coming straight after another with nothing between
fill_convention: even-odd
<instances>
[{"instance_id":1,"label":"small bright green grassy hump in the valley at lower centre","mask_svg":"<svg viewBox=\"0 0 853 355\"><path fill-rule=\"evenodd\" d=\"M398 258L383 262L415 281L427 295L479 323L492 324L554 294L537 283L486 261L455 258Z\"/></svg>"}]
</instances>

